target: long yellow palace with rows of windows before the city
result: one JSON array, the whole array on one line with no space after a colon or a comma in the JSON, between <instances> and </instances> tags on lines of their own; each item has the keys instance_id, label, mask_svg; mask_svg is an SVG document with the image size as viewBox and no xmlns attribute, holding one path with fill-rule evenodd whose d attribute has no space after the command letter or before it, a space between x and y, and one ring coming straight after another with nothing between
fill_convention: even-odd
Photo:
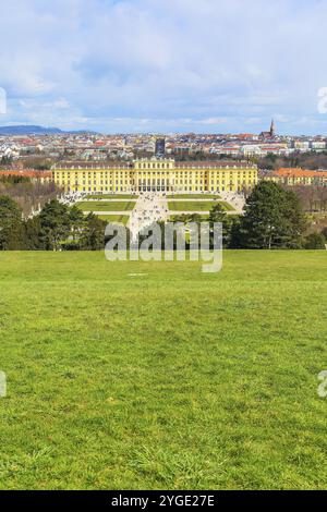
<instances>
[{"instance_id":1,"label":"long yellow palace with rows of windows before the city","mask_svg":"<svg viewBox=\"0 0 327 512\"><path fill-rule=\"evenodd\" d=\"M53 181L65 192L238 192L257 183L256 166L246 162L138 159L132 162L65 163L52 169Z\"/></svg>"}]
</instances>

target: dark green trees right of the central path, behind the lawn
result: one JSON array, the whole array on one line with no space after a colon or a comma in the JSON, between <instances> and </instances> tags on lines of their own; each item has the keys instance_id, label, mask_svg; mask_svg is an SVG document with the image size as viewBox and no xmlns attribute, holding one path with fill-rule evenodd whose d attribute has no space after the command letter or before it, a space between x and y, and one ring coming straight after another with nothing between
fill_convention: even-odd
<instances>
[{"instance_id":1,"label":"dark green trees right of the central path, behind the lawn","mask_svg":"<svg viewBox=\"0 0 327 512\"><path fill-rule=\"evenodd\" d=\"M181 222L201 222L201 216L179 216ZM233 249L323 249L327 229L306 235L310 220L300 197L270 181L259 182L247 196L244 215L228 216L217 203L208 221L221 222L223 245Z\"/></svg>"}]
</instances>

